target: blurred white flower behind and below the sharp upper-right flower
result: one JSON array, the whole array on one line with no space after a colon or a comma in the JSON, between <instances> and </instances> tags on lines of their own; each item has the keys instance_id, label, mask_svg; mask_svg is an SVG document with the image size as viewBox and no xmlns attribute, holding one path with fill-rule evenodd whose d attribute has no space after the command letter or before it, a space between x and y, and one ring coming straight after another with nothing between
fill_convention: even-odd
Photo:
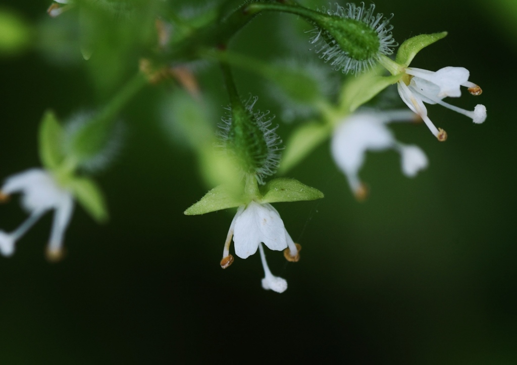
<instances>
[{"instance_id":1,"label":"blurred white flower behind and below the sharp upper-right flower","mask_svg":"<svg viewBox=\"0 0 517 365\"><path fill-rule=\"evenodd\" d=\"M358 199L366 197L366 188L358 176L366 151L389 148L399 151L402 156L402 172L407 177L415 177L418 171L427 167L427 157L419 147L397 141L386 127L387 122L415 121L415 117L409 110L365 111L344 118L336 127L331 141L332 156L345 173L348 184Z\"/></svg>"}]
</instances>

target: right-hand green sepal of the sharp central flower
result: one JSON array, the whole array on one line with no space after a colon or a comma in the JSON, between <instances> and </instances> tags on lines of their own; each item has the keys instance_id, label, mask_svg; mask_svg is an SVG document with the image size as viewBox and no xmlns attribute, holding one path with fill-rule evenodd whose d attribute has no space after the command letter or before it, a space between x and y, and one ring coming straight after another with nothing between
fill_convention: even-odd
<instances>
[{"instance_id":1,"label":"right-hand green sepal of the sharp central flower","mask_svg":"<svg viewBox=\"0 0 517 365\"><path fill-rule=\"evenodd\" d=\"M262 189L262 202L315 200L324 197L318 189L302 184L295 179L278 178L268 182Z\"/></svg>"}]
</instances>

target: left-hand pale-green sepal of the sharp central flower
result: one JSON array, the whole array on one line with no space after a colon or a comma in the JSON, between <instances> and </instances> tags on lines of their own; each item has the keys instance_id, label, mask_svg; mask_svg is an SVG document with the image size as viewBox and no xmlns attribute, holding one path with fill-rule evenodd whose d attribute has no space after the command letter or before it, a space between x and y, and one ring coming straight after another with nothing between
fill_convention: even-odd
<instances>
[{"instance_id":1,"label":"left-hand pale-green sepal of the sharp central flower","mask_svg":"<svg viewBox=\"0 0 517 365\"><path fill-rule=\"evenodd\" d=\"M248 202L243 195L236 194L234 189L226 185L219 185L211 189L200 201L191 205L183 213L186 215L205 214L228 208L236 208Z\"/></svg>"}]
</instances>

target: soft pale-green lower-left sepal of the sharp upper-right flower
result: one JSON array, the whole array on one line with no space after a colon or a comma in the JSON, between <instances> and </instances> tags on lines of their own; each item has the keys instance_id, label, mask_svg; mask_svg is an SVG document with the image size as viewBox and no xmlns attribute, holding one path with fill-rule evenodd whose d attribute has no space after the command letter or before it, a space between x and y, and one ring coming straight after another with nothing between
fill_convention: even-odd
<instances>
[{"instance_id":1,"label":"soft pale-green lower-left sepal of the sharp upper-right flower","mask_svg":"<svg viewBox=\"0 0 517 365\"><path fill-rule=\"evenodd\" d=\"M359 106L369 102L379 92L396 83L403 76L403 74L381 76L381 69L379 67L349 79L341 91L340 108L343 113L353 113Z\"/></svg>"}]
</instances>

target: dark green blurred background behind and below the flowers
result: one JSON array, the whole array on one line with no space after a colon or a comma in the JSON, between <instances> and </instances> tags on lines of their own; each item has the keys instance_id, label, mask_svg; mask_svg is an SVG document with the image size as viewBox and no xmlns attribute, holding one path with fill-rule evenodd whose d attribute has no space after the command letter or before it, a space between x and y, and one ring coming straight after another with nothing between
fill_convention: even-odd
<instances>
[{"instance_id":1,"label":"dark green blurred background behind and below the flowers","mask_svg":"<svg viewBox=\"0 0 517 365\"><path fill-rule=\"evenodd\" d=\"M8 5L37 20L49 3ZM449 31L412 66L469 69L483 94L452 103L483 103L484 124L430 106L447 142L423 124L393 125L399 140L427 153L430 166L407 179L398 154L369 153L364 203L349 192L328 144L318 148L290 176L326 198L276 204L303 246L296 264L267 252L272 272L289 284L279 295L261 288L258 255L219 267L231 214L183 215L206 186L194 155L160 126L156 106L166 88L147 89L123 113L125 147L98 176L110 223L98 226L78 207L66 259L49 264L49 214L12 258L0 258L0 362L517 363L517 33L504 27L511 15L470 0L376 5L395 14L399 42ZM284 57L290 49L282 29L297 24L264 14L232 47L265 60ZM105 100L81 64L55 65L37 52L0 59L0 73L2 179L39 166L37 128L46 108L66 117ZM261 96L258 107L280 114L260 78L237 71L236 79L240 90ZM217 68L203 72L202 85L218 95L216 105L226 104ZM292 128L282 124L279 133L285 138ZM17 199L0 207L2 229L24 217Z\"/></svg>"}]
</instances>

